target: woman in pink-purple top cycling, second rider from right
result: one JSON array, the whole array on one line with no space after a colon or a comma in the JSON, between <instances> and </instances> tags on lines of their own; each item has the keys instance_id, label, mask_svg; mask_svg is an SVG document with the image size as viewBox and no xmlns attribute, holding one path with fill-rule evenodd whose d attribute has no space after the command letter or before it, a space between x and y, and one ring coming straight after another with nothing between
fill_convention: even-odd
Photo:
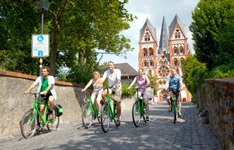
<instances>
[{"instance_id":1,"label":"woman in pink-purple top cycling, second rider from right","mask_svg":"<svg viewBox=\"0 0 234 150\"><path fill-rule=\"evenodd\" d=\"M150 80L148 76L144 74L142 69L139 69L138 73L139 75L133 79L128 89L130 89L135 84L135 82L137 82L137 94L139 95L139 97L143 96L142 98L144 99L146 109L146 121L149 121L149 99L152 98Z\"/></svg>"}]
</instances>

